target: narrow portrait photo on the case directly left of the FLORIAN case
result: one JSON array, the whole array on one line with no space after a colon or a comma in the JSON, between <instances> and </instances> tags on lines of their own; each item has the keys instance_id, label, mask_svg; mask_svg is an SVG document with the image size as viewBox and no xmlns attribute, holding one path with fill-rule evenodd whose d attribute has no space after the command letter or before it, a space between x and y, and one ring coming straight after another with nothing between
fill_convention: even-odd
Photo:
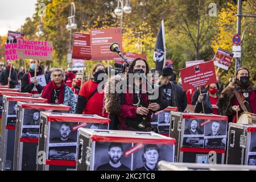
<instances>
[{"instance_id":1,"label":"narrow portrait photo on the case directly left of the FLORIAN case","mask_svg":"<svg viewBox=\"0 0 256 182\"><path fill-rule=\"evenodd\" d=\"M40 110L24 109L22 138L38 138Z\"/></svg>"}]
</instances>

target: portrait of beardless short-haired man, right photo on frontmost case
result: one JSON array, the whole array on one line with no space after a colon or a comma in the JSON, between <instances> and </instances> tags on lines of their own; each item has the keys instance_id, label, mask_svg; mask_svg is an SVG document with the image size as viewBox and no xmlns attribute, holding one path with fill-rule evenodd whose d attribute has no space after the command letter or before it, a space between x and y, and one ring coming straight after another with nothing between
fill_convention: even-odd
<instances>
[{"instance_id":1,"label":"portrait of beardless short-haired man, right photo on frontmost case","mask_svg":"<svg viewBox=\"0 0 256 182\"><path fill-rule=\"evenodd\" d=\"M156 171L160 160L174 162L174 147L163 144L144 144L141 150L133 154L133 170Z\"/></svg>"}]
</instances>

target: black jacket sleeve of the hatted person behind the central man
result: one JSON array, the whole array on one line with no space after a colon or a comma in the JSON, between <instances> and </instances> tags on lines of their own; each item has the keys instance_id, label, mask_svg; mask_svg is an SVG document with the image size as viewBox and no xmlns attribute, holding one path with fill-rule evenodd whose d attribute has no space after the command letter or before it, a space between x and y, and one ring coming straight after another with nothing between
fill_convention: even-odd
<instances>
[{"instance_id":1,"label":"black jacket sleeve of the hatted person behind the central man","mask_svg":"<svg viewBox=\"0 0 256 182\"><path fill-rule=\"evenodd\" d=\"M187 101L187 94L185 91L183 91L182 86L177 84L176 81L173 81L174 86L176 88L176 95L177 95L177 107L179 112L184 112L184 110L187 107L188 101Z\"/></svg>"}]
</instances>

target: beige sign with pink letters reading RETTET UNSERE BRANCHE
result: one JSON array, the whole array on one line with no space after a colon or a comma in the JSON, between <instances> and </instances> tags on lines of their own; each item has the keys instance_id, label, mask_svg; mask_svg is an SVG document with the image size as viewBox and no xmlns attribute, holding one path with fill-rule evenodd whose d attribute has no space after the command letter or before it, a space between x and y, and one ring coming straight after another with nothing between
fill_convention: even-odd
<instances>
[{"instance_id":1,"label":"beige sign with pink letters reading RETTET UNSERE BRANCHE","mask_svg":"<svg viewBox=\"0 0 256 182\"><path fill-rule=\"evenodd\" d=\"M18 59L52 60L52 42L18 40Z\"/></svg>"}]
</instances>

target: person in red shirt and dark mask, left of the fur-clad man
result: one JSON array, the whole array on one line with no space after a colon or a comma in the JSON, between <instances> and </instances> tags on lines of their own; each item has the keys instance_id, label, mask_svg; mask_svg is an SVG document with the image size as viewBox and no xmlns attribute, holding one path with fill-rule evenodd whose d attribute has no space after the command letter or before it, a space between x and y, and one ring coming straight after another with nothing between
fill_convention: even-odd
<instances>
[{"instance_id":1,"label":"person in red shirt and dark mask, left of the fur-clad man","mask_svg":"<svg viewBox=\"0 0 256 182\"><path fill-rule=\"evenodd\" d=\"M100 83L106 77L103 64L95 64L92 71L93 78L82 84L76 104L76 114L97 114L108 117L105 110L104 89Z\"/></svg>"}]
</instances>

